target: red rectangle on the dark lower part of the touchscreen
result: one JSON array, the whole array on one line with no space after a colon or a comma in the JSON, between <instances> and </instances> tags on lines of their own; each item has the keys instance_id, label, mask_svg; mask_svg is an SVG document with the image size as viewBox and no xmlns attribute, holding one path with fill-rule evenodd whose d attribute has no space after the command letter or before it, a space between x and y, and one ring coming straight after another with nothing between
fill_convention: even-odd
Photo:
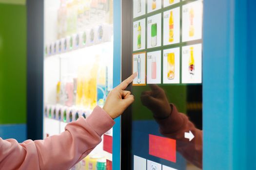
<instances>
[{"instance_id":1,"label":"red rectangle on the dark lower part of the touchscreen","mask_svg":"<svg viewBox=\"0 0 256 170\"><path fill-rule=\"evenodd\" d=\"M176 140L149 135L149 154L176 163Z\"/></svg>"}]
</instances>

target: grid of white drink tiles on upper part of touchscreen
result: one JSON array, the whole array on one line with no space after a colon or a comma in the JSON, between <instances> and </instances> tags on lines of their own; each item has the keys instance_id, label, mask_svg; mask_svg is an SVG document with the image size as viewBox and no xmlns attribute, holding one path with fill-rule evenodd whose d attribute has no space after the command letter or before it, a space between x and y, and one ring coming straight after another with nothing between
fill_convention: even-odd
<instances>
[{"instance_id":1,"label":"grid of white drink tiles on upper part of touchscreen","mask_svg":"<svg viewBox=\"0 0 256 170\"><path fill-rule=\"evenodd\" d=\"M133 85L201 84L203 1L133 2Z\"/></svg>"}]
</instances>

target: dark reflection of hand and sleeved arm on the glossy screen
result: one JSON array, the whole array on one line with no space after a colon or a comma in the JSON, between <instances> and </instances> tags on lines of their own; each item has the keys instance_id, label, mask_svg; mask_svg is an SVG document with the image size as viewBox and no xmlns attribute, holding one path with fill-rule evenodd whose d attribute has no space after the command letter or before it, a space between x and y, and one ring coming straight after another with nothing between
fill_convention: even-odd
<instances>
[{"instance_id":1,"label":"dark reflection of hand and sleeved arm on the glossy screen","mask_svg":"<svg viewBox=\"0 0 256 170\"><path fill-rule=\"evenodd\" d=\"M177 140L177 151L195 166L202 168L202 131L197 129L185 114L178 113L174 104L169 104L165 92L157 85L151 91L141 94L141 102L149 108L160 127L163 136ZM191 131L191 141L184 137Z\"/></svg>"}]
</instances>

